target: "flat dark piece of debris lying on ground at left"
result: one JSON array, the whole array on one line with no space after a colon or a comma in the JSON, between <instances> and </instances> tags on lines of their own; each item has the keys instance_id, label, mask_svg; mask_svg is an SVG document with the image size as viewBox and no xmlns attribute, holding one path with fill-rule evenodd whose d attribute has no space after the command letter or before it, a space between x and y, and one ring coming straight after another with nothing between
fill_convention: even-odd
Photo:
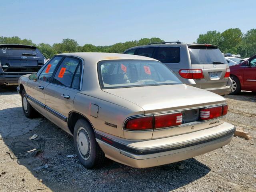
<instances>
[{"instance_id":1,"label":"flat dark piece of debris lying on ground at left","mask_svg":"<svg viewBox=\"0 0 256 192\"><path fill-rule=\"evenodd\" d=\"M45 140L40 138L37 140L16 141L10 147L10 157L12 159L34 157L36 154L44 150Z\"/></svg>"}]
</instances>

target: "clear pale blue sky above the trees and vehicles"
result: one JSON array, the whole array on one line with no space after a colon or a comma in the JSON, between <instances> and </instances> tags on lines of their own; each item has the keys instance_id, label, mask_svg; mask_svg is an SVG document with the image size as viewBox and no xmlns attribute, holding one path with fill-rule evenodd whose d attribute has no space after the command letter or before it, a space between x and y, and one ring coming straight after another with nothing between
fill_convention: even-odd
<instances>
[{"instance_id":1,"label":"clear pale blue sky above the trees and vehicles","mask_svg":"<svg viewBox=\"0 0 256 192\"><path fill-rule=\"evenodd\" d=\"M112 45L159 37L195 42L209 30L256 28L255 0L0 0L0 36Z\"/></svg>"}]
</instances>

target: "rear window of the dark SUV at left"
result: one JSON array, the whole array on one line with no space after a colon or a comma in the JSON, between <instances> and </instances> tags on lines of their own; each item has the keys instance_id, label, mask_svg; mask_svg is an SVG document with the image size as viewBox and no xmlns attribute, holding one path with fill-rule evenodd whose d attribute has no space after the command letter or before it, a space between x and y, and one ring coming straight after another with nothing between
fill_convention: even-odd
<instances>
[{"instance_id":1,"label":"rear window of the dark SUV at left","mask_svg":"<svg viewBox=\"0 0 256 192\"><path fill-rule=\"evenodd\" d=\"M37 56L44 57L36 47L29 46L0 46L0 56Z\"/></svg>"}]
</instances>

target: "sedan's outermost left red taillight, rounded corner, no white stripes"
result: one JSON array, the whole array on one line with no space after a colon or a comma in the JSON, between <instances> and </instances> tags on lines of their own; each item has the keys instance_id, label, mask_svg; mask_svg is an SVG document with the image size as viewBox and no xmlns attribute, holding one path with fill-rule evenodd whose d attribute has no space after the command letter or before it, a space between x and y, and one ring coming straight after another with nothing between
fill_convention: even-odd
<instances>
[{"instance_id":1,"label":"sedan's outermost left red taillight, rounded corner, no white stripes","mask_svg":"<svg viewBox=\"0 0 256 192\"><path fill-rule=\"evenodd\" d=\"M154 116L130 119L126 122L126 124L124 125L124 128L128 130L153 129L153 119L154 119Z\"/></svg>"}]
</instances>

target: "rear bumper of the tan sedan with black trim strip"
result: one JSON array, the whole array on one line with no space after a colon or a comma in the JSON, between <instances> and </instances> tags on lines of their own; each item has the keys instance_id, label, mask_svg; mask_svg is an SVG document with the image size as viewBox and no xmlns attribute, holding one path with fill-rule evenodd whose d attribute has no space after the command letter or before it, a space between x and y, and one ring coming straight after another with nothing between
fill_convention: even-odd
<instances>
[{"instance_id":1,"label":"rear bumper of the tan sedan with black trim strip","mask_svg":"<svg viewBox=\"0 0 256 192\"><path fill-rule=\"evenodd\" d=\"M152 140L134 141L127 145L127 140L117 141L116 138L108 135L106 137L113 141L110 144L101 139L102 132L96 132L96 140L106 157L128 166L146 168L178 162L220 148L231 141L235 130L233 125L225 122L206 130L186 134L186 138L190 135L191 140L182 141L184 135L155 139L154 146L152 146ZM169 144L166 144L166 140ZM173 142L174 140L181 142ZM147 143L151 145L150 148L139 147L146 146ZM159 145L163 143L165 144Z\"/></svg>"}]
</instances>

